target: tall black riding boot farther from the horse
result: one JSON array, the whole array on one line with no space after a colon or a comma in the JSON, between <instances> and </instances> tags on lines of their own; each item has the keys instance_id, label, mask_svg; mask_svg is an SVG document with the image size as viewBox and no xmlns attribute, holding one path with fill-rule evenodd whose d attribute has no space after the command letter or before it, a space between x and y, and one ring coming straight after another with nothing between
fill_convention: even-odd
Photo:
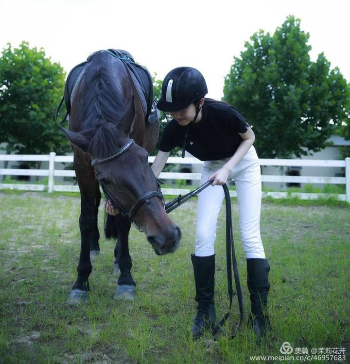
<instances>
[{"instance_id":1,"label":"tall black riding boot farther from the horse","mask_svg":"<svg viewBox=\"0 0 350 364\"><path fill-rule=\"evenodd\" d=\"M258 339L262 339L271 324L267 315L267 294L270 289L268 273L270 265L267 259L247 259L247 285L250 292L251 315L249 325Z\"/></svg>"}]
</instances>

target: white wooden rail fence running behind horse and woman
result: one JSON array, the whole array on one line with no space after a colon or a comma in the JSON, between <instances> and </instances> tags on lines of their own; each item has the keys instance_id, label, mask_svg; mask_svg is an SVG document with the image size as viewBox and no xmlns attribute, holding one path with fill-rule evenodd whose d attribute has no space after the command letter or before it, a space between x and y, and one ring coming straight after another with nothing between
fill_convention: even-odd
<instances>
[{"instance_id":1,"label":"white wooden rail fence running behind horse and woman","mask_svg":"<svg viewBox=\"0 0 350 364\"><path fill-rule=\"evenodd\" d=\"M149 157L152 163L155 157ZM73 170L55 169L55 163L65 162L72 163L73 156L59 156L52 152L47 155L0 155L0 161L22 161L22 162L49 162L49 169L11 169L0 168L0 175L10 176L47 176L48 185L45 184L22 184L22 183L0 183L0 189L18 189L28 191L67 191L78 192L77 185L59 185L54 183L55 177L75 177ZM168 164L203 164L196 158L170 157ZM350 202L350 158L344 161L336 160L301 160L301 159L260 159L261 165L272 166L312 166L312 167L344 167L346 177L312 177L312 176L274 176L262 175L262 182L297 182L297 183L330 183L346 184L346 194L331 195L322 193L291 193L291 196L297 196L302 200L317 199L318 197L337 196L338 200ZM179 172L162 172L159 176L161 179L176 180L200 180L200 173L179 173ZM178 195L189 192L184 188L163 188L164 195ZM236 196L236 191L230 191L232 197ZM263 192L263 197L272 196L273 198L287 197L287 192Z\"/></svg>"}]
</instances>

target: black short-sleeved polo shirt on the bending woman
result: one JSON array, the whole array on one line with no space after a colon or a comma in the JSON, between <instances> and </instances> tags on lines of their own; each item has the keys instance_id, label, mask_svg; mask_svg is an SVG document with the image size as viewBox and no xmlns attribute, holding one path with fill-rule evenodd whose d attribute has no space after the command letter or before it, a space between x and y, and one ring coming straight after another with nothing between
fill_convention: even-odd
<instances>
[{"instance_id":1,"label":"black short-sleeved polo shirt on the bending woman","mask_svg":"<svg viewBox=\"0 0 350 364\"><path fill-rule=\"evenodd\" d=\"M201 161L216 161L232 157L248 124L233 106L205 98L203 115L199 123L189 125L186 150ZM182 148L187 126L172 119L165 127L159 150L170 152L175 146Z\"/></svg>"}]
</instances>

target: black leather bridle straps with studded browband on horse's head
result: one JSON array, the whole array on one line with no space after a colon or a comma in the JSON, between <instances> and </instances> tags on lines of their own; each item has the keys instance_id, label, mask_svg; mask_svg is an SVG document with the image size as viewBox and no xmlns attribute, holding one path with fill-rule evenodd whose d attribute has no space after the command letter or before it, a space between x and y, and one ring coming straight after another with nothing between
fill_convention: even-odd
<instances>
[{"instance_id":1,"label":"black leather bridle straps with studded browband on horse's head","mask_svg":"<svg viewBox=\"0 0 350 364\"><path fill-rule=\"evenodd\" d=\"M112 159L116 159L116 158L120 157L123 153L128 151L134 143L135 143L135 141L133 139L130 139L116 153L110 155L109 157L91 159L91 166L94 168L95 164L105 163L105 162L111 161ZM113 204L113 207L117 208L118 211L122 214L122 216L124 216L126 218L129 218L139 230L140 230L140 227L135 223L135 221L133 221L133 217L134 217L136 211L140 208L140 206L144 202L149 203L151 198L157 197L162 201L163 206L164 206L164 198L163 198L163 195L161 193L160 185L159 185L159 182L157 181L157 179L156 179L156 181L157 181L157 191L147 191L142 196L140 196L139 199L133 204L131 209L129 211L127 211L120 204L118 204L118 202L116 202L116 200L113 199L112 195L109 193L107 187L105 186L105 183L102 181L103 177L98 176L95 168L94 168L94 172L95 172L96 179L99 182L99 184L100 184L100 186L101 186L101 188L102 188L102 190L103 190L103 192L105 194L106 200L110 200L112 202L112 204Z\"/></svg>"}]
</instances>

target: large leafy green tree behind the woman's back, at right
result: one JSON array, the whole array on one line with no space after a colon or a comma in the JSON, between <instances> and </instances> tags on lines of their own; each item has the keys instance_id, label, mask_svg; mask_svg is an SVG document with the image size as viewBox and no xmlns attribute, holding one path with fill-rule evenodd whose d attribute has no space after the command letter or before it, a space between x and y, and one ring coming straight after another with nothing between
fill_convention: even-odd
<instances>
[{"instance_id":1,"label":"large leafy green tree behind the woman's back, at right","mask_svg":"<svg viewBox=\"0 0 350 364\"><path fill-rule=\"evenodd\" d=\"M350 116L350 86L323 53L310 60L308 39L289 16L273 36L251 36L226 76L223 100L252 125L262 158L318 151Z\"/></svg>"}]
</instances>

